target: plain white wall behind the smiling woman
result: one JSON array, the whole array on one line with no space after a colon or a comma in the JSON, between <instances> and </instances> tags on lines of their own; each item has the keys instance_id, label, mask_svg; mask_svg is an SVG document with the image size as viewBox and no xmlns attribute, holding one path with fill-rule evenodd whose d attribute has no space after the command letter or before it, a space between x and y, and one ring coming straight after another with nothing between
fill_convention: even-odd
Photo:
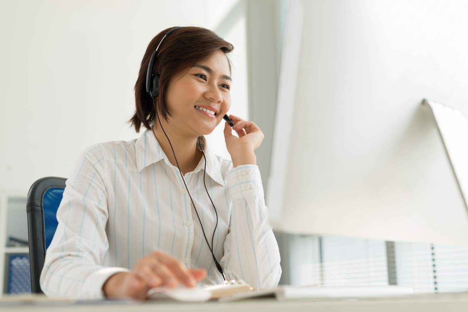
<instances>
[{"instance_id":1,"label":"plain white wall behind the smiling woman","mask_svg":"<svg viewBox=\"0 0 468 312\"><path fill-rule=\"evenodd\" d=\"M171 26L214 29L236 2L2 0L0 189L26 194L40 177L67 177L87 146L138 137L125 122L147 44ZM235 47L230 113L245 116L242 22L224 38Z\"/></svg>"}]
</instances>

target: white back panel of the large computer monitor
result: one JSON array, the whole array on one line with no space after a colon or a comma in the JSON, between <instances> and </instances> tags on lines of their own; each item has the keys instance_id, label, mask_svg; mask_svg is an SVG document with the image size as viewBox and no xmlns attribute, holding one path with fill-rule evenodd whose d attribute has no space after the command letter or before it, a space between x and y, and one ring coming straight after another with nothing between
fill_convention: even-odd
<instances>
[{"instance_id":1,"label":"white back panel of the large computer monitor","mask_svg":"<svg viewBox=\"0 0 468 312\"><path fill-rule=\"evenodd\" d=\"M467 8L291 2L266 196L273 227L468 245L462 192L421 105L468 112Z\"/></svg>"}]
</instances>

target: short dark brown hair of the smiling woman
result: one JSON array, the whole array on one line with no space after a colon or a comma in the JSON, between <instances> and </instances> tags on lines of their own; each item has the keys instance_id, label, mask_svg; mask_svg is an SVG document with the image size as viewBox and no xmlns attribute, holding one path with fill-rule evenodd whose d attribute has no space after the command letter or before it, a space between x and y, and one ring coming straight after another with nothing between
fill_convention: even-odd
<instances>
[{"instance_id":1,"label":"short dark brown hair of the smiling woman","mask_svg":"<svg viewBox=\"0 0 468 312\"><path fill-rule=\"evenodd\" d=\"M141 125L151 129L156 113L153 99L146 93L146 72L154 50L162 37L172 28L167 28L156 35L148 44L145 55L141 61L138 79L135 83L135 113L128 121L138 133ZM197 64L198 61L211 57L216 51L225 54L234 50L234 46L216 35L212 30L202 27L183 27L169 34L158 49L153 65L153 74L160 76L158 82L159 95L156 105L162 117L168 120L170 113L166 106L166 91L169 81L176 74ZM229 71L231 63L229 61Z\"/></svg>"}]
</instances>

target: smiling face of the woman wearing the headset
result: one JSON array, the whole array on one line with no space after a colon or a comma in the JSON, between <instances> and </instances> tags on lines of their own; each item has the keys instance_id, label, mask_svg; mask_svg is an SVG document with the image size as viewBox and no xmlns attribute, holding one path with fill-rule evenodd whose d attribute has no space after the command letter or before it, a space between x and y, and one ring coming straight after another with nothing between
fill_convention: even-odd
<instances>
[{"instance_id":1,"label":"smiling face of the woman wearing the headset","mask_svg":"<svg viewBox=\"0 0 468 312\"><path fill-rule=\"evenodd\" d=\"M172 78L166 93L169 122L184 135L210 134L231 107L229 75L227 57L218 50Z\"/></svg>"}]
</instances>

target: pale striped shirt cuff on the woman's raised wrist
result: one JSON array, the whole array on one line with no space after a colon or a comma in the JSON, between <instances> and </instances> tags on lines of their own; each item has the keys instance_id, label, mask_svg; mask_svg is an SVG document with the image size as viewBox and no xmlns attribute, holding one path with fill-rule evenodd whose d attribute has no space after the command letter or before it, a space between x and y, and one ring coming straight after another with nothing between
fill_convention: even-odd
<instances>
[{"instance_id":1,"label":"pale striped shirt cuff on the woman's raised wrist","mask_svg":"<svg viewBox=\"0 0 468 312\"><path fill-rule=\"evenodd\" d=\"M226 183L231 200L248 196L263 197L263 184L257 165L240 165L226 173Z\"/></svg>"}]
</instances>

